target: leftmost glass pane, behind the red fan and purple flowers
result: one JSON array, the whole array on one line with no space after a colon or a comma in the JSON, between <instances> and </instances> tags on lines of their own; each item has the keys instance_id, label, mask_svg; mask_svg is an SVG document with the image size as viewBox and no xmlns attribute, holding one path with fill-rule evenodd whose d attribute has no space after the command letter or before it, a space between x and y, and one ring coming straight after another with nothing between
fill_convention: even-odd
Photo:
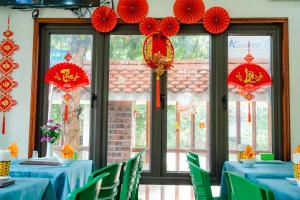
<instances>
[{"instance_id":1,"label":"leftmost glass pane, behind the red fan and purple flowers","mask_svg":"<svg viewBox=\"0 0 300 200\"><path fill-rule=\"evenodd\" d=\"M71 63L83 68L91 80L92 73L92 35L60 35L52 34L50 37L50 66L64 62L64 57L70 50ZM54 145L55 152L60 155L63 145L70 144L77 151L78 159L89 158L90 140L90 85L78 88L71 92L69 101L69 119L63 121L65 106L64 92L56 86L49 85L48 119L64 124L64 134Z\"/></svg>"}]
</instances>

